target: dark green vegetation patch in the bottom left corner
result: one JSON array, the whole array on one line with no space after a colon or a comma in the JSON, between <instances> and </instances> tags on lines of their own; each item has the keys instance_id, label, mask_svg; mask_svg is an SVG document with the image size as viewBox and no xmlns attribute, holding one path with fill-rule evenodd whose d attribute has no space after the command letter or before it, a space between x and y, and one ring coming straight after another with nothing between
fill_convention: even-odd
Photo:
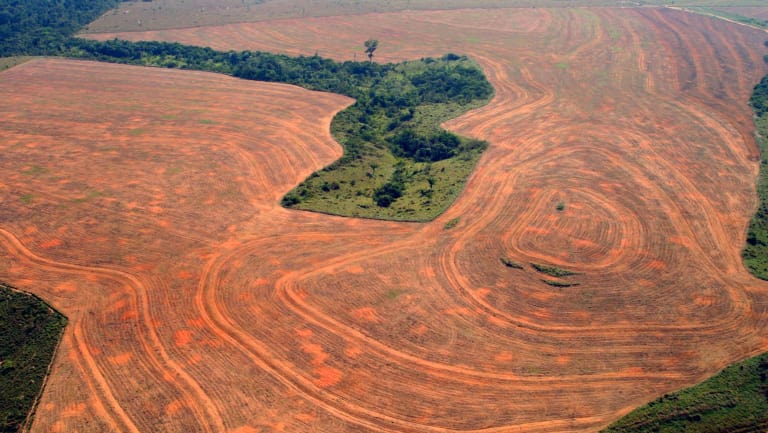
<instances>
[{"instance_id":1,"label":"dark green vegetation patch in the bottom left corner","mask_svg":"<svg viewBox=\"0 0 768 433\"><path fill-rule=\"evenodd\" d=\"M0 284L0 432L17 432L41 391L66 318Z\"/></svg>"}]
</instances>

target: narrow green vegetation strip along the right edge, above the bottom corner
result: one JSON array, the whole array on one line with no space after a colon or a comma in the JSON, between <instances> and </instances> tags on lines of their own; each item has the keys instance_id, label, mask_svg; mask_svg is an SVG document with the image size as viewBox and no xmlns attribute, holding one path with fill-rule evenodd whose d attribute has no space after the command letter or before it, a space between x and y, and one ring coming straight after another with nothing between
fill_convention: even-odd
<instances>
[{"instance_id":1,"label":"narrow green vegetation strip along the right edge, above the bottom corner","mask_svg":"<svg viewBox=\"0 0 768 433\"><path fill-rule=\"evenodd\" d=\"M758 206L749 222L742 258L754 276L768 280L768 76L755 86L749 104L755 112L761 158L757 179Z\"/></svg>"}]
</instances>

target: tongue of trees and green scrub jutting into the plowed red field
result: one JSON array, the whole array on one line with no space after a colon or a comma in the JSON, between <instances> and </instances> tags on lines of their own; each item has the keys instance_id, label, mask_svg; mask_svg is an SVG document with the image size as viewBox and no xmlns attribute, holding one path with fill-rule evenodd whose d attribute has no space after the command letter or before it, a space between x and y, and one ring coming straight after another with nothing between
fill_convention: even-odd
<instances>
[{"instance_id":1,"label":"tongue of trees and green scrub jutting into the plowed red field","mask_svg":"<svg viewBox=\"0 0 768 433\"><path fill-rule=\"evenodd\" d=\"M456 199L487 146L439 125L486 103L493 88L464 56L378 64L373 61L378 41L366 43L372 45L367 49L371 60L363 62L121 40L74 39L64 54L220 72L355 98L331 125L344 156L286 195L283 205L344 216L431 220Z\"/></svg>"}]
</instances>

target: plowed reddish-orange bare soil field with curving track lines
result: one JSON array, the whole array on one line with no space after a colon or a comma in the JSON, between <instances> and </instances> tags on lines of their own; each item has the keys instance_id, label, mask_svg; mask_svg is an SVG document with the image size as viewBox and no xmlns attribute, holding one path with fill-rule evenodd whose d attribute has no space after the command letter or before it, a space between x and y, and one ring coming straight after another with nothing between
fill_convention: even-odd
<instances>
[{"instance_id":1,"label":"plowed reddish-orange bare soil field with curving track lines","mask_svg":"<svg viewBox=\"0 0 768 433\"><path fill-rule=\"evenodd\" d=\"M86 62L3 72L0 275L70 318L33 432L592 432L768 350L768 284L739 256L765 34L643 8L165 36L470 54L497 93L447 126L491 145L431 223L288 211L339 156L348 99Z\"/></svg>"}]
</instances>

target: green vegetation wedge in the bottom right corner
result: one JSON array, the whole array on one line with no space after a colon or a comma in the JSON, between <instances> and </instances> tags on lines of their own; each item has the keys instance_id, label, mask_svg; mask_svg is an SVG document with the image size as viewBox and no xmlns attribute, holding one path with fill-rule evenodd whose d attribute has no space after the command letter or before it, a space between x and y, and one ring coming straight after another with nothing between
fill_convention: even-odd
<instances>
[{"instance_id":1,"label":"green vegetation wedge in the bottom right corner","mask_svg":"<svg viewBox=\"0 0 768 433\"><path fill-rule=\"evenodd\" d=\"M733 364L696 386L635 410L604 433L765 432L768 354Z\"/></svg>"}]
</instances>

